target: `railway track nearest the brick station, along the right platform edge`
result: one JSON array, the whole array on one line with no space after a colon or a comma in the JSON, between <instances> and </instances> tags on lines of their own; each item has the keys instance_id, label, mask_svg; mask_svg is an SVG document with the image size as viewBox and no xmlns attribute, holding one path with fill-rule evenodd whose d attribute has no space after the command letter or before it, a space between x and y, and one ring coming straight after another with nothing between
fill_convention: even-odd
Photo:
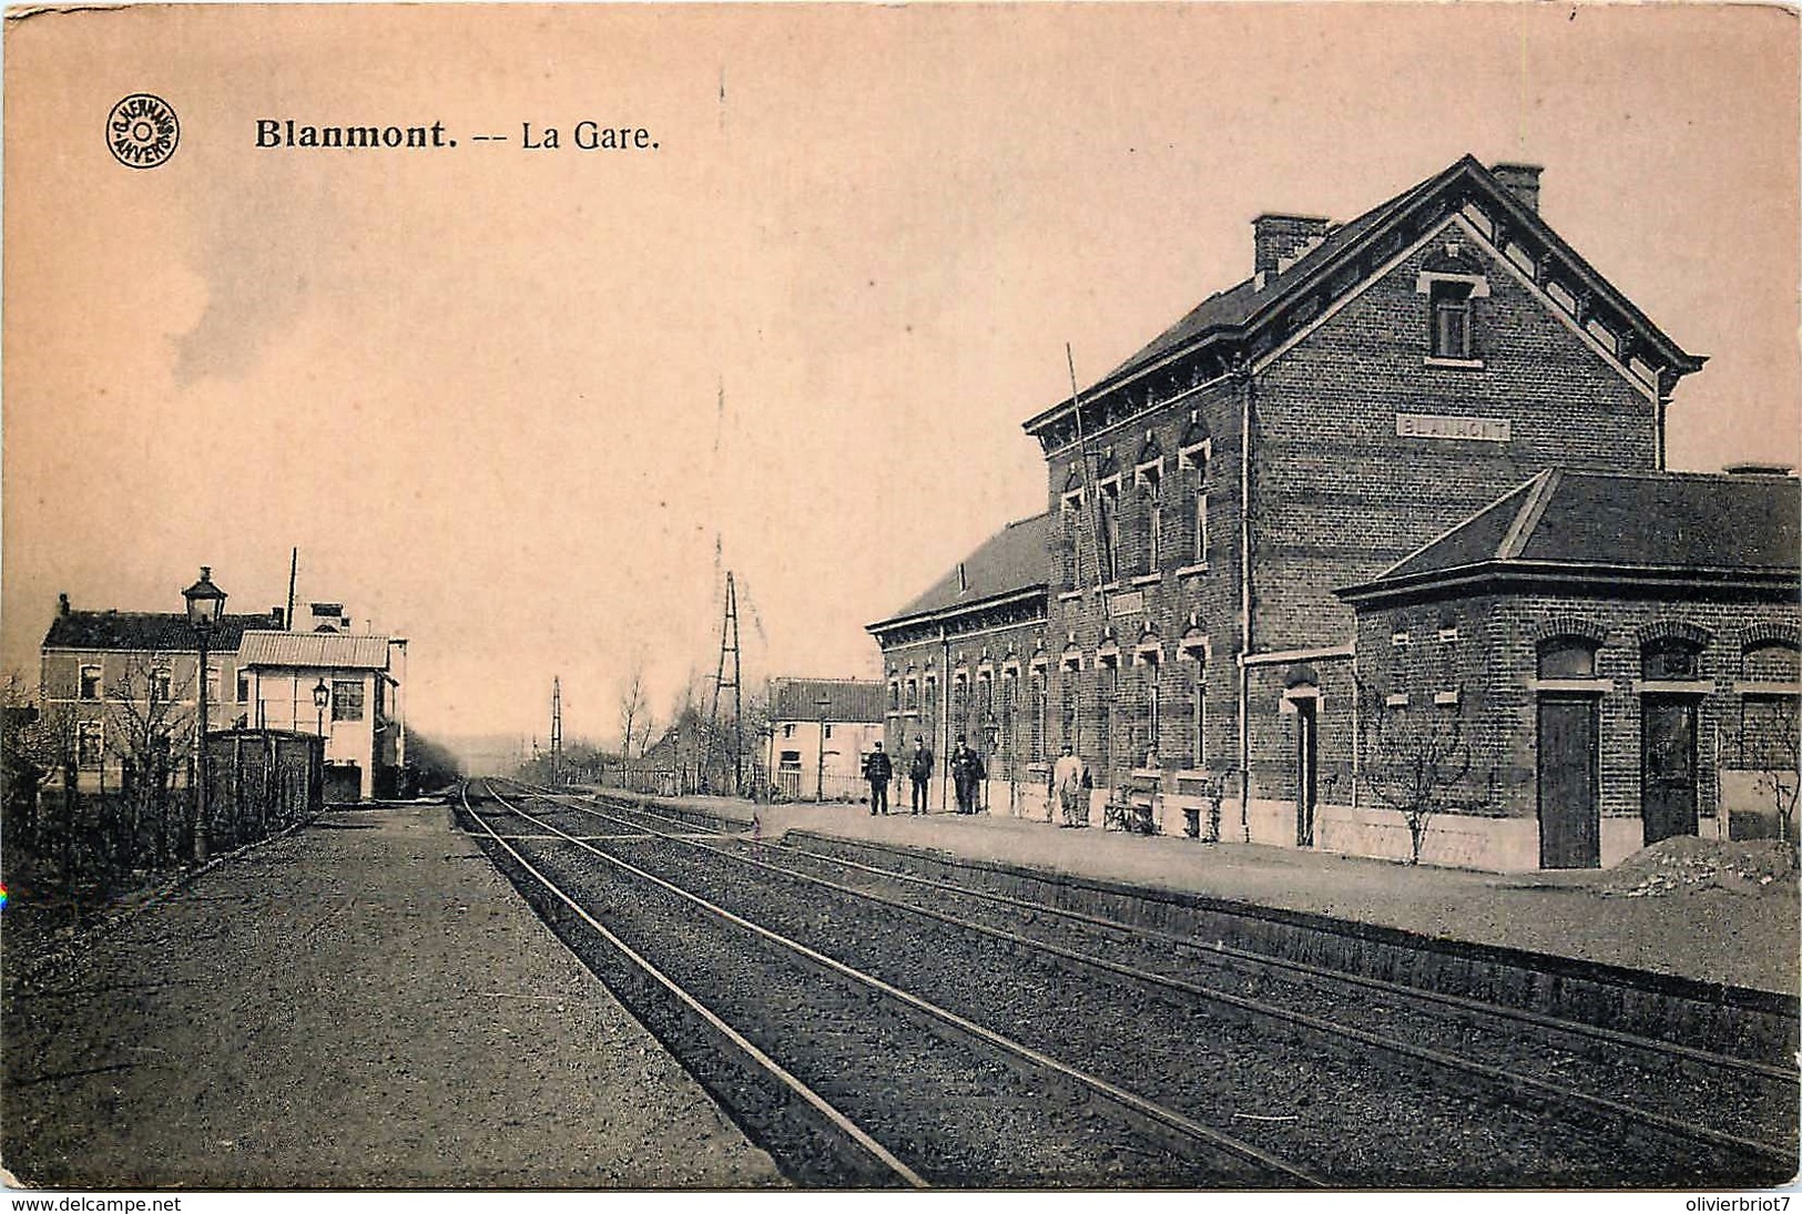
<instances>
[{"instance_id":1,"label":"railway track nearest the brick station, along the right platform edge","mask_svg":"<svg viewBox=\"0 0 1802 1214\"><path fill-rule=\"evenodd\" d=\"M742 839L697 834L690 823L642 805L523 796L533 798L537 814L517 805L508 814L532 845L631 850L638 865L658 868L663 879L714 890L719 901L739 899L741 910L755 904L759 915L789 922L796 933L811 931L815 940L833 933L795 908L831 897L863 906L863 915L932 924L930 931L912 929L912 937L930 935L935 949L962 960L966 987L980 985L968 980L969 964L1029 973L1049 991L1058 987L1058 971L1083 973L1085 987L1094 987L1085 998L1114 1012L1088 1012L1085 1032L1056 1039L1061 1055L1087 1050L1092 1070L1112 1068L1115 1079L1155 1090L1191 1117L1243 1126L1265 1151L1310 1160L1333 1183L1773 1183L1795 1171L1793 1072L1294 962L1197 947L804 848L764 843L748 856L751 845ZM551 821L571 814L607 823L607 834L584 839ZM737 888L746 883L728 872L755 872L784 892L746 893ZM892 964L843 933L833 938L833 951L861 956L872 969ZM941 991L960 985L955 974L921 974L905 964L899 969ZM977 1018L987 1023L1018 1016L993 994L986 1005L973 991L953 991L946 1001L953 998L982 1005ZM1119 1009L1135 1010L1123 1018ZM1206 1055L1206 1074L1182 1065L1182 1046ZM1260 1050L1263 1072L1305 1074L1328 1099L1314 1102L1294 1084L1272 1086L1269 1074L1260 1079ZM1723 1083L1723 1074L1732 1083ZM1225 1075L1238 1079L1224 1083ZM1696 1083L1696 1075L1703 1081ZM1373 1099L1384 1088L1397 1088L1388 1093L1393 1099ZM1643 1088L1663 1097L1634 1104L1616 1095ZM1288 1092L1290 1104L1278 1110L1279 1101L1272 1101L1263 1113L1249 1111L1231 1095L1247 1090ZM1784 1110L1788 1144L1770 1135L1773 1126L1782 1133ZM1333 1138L1335 1128L1346 1124L1379 1137L1393 1126L1413 1146L1400 1156L1348 1147ZM1393 1146L1393 1135L1389 1140ZM1461 1153L1474 1158L1461 1164Z\"/></svg>"}]
</instances>

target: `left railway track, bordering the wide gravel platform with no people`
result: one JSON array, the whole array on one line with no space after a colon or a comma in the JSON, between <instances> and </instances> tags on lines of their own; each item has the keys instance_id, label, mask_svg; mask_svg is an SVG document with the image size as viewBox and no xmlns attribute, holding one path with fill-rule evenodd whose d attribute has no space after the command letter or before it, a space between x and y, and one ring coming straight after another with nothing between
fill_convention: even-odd
<instances>
[{"instance_id":1,"label":"left railway track, bordering the wide gravel platform with no people","mask_svg":"<svg viewBox=\"0 0 1802 1214\"><path fill-rule=\"evenodd\" d=\"M577 845L490 796L503 816ZM589 843L508 838L467 794L465 812L535 902L560 908L550 919L564 938L802 1183L1319 1183Z\"/></svg>"}]
</instances>

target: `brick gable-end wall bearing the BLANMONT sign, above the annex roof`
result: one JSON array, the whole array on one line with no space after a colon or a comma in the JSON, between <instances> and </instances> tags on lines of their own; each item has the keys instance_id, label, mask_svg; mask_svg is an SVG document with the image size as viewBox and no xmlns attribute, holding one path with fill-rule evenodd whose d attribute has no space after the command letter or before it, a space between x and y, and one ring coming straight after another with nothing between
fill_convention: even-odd
<instances>
[{"instance_id":1,"label":"brick gable-end wall bearing the BLANMONT sign, above the annex roof","mask_svg":"<svg viewBox=\"0 0 1802 1214\"><path fill-rule=\"evenodd\" d=\"M1416 281L1458 241L1479 367L1429 366ZM1344 641L1332 591L1368 580L1550 465L1652 470L1652 402L1452 227L1256 380L1254 650ZM1494 418L1508 441L1400 438L1397 414Z\"/></svg>"}]
</instances>

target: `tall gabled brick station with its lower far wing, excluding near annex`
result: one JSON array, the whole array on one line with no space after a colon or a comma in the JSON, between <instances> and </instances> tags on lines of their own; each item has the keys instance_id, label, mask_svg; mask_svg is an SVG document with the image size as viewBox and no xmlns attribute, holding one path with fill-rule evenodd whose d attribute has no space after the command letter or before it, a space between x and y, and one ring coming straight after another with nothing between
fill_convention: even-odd
<instances>
[{"instance_id":1,"label":"tall gabled brick station with its lower far wing, excluding near annex","mask_svg":"<svg viewBox=\"0 0 1802 1214\"><path fill-rule=\"evenodd\" d=\"M1251 277L1025 421L1049 513L870 625L890 738L969 733L1015 812L1070 742L1097 805L1155 791L1166 832L1224 798L1224 838L1407 854L1361 778L1370 638L1337 591L1548 468L1663 474L1703 366L1552 231L1539 177L1463 157L1346 223L1254 220ZM1497 827L1519 796L1427 857L1537 865Z\"/></svg>"}]
</instances>

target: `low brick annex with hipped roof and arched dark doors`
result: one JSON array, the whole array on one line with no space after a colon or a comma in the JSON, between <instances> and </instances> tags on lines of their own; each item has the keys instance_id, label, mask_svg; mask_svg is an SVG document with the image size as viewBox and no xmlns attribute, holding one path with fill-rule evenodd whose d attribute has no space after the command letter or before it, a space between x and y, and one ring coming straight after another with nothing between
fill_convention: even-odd
<instances>
[{"instance_id":1,"label":"low brick annex with hipped roof and arched dark doors","mask_svg":"<svg viewBox=\"0 0 1802 1214\"><path fill-rule=\"evenodd\" d=\"M1341 589L1359 778L1317 847L1409 856L1422 811L1422 859L1497 870L1795 838L1798 510L1788 476L1553 468Z\"/></svg>"}]
</instances>

